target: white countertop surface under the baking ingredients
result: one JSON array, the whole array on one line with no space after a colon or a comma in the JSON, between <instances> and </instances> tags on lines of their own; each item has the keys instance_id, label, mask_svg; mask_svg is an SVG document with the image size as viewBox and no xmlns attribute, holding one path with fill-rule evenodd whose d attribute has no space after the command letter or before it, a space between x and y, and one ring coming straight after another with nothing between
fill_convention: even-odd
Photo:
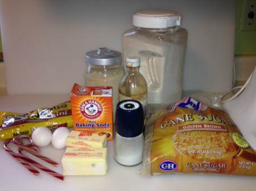
<instances>
[{"instance_id":1,"label":"white countertop surface under the baking ingredients","mask_svg":"<svg viewBox=\"0 0 256 191\"><path fill-rule=\"evenodd\" d=\"M0 111L24 113L40 107L69 100L69 95L9 95L0 96ZM3 141L0 142L3 145ZM51 167L62 173L61 158L63 150L51 145L41 149L41 154L56 160L59 167ZM142 177L135 167L123 167L114 160L114 141L108 142L109 169L105 176L66 176L64 181L40 171L39 176L32 175L19 162L0 147L0 188L1 190L255 190L256 177L228 175L158 175Z\"/></svg>"}]
</instances>

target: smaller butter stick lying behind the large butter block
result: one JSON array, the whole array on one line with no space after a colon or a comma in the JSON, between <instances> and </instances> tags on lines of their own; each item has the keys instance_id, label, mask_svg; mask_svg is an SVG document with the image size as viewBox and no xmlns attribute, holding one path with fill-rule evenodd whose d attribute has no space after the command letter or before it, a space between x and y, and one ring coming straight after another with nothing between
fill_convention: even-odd
<instances>
[{"instance_id":1,"label":"smaller butter stick lying behind the large butter block","mask_svg":"<svg viewBox=\"0 0 256 191\"><path fill-rule=\"evenodd\" d=\"M106 147L106 134L72 130L65 139L66 147Z\"/></svg>"}]
</instances>

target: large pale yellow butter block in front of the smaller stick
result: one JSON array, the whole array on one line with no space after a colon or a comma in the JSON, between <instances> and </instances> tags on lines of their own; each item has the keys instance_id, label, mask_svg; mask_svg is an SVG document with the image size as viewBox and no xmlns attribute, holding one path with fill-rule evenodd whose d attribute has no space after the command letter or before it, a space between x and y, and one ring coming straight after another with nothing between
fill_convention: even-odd
<instances>
[{"instance_id":1,"label":"large pale yellow butter block in front of the smaller stick","mask_svg":"<svg viewBox=\"0 0 256 191\"><path fill-rule=\"evenodd\" d=\"M106 175L107 152L107 148L68 147L61 159L63 175Z\"/></svg>"}]
</instances>

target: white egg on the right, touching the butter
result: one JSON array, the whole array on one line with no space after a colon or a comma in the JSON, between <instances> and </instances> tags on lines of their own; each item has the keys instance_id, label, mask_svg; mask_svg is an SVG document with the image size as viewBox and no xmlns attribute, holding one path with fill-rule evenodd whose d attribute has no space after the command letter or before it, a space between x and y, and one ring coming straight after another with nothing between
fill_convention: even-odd
<instances>
[{"instance_id":1,"label":"white egg on the right, touching the butter","mask_svg":"<svg viewBox=\"0 0 256 191\"><path fill-rule=\"evenodd\" d=\"M68 134L70 133L68 128L57 128L52 133L52 146L56 149L61 149L66 146L65 138L68 137Z\"/></svg>"}]
</instances>

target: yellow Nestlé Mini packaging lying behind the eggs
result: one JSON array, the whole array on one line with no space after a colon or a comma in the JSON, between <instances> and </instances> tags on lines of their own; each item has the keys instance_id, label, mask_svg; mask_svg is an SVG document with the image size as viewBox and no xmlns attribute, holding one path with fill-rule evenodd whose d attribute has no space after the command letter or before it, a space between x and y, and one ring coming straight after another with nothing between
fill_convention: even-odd
<instances>
[{"instance_id":1,"label":"yellow Nestl\u00e9 Mini packaging lying behind the eggs","mask_svg":"<svg viewBox=\"0 0 256 191\"><path fill-rule=\"evenodd\" d=\"M72 125L70 101L27 113L0 111L0 141L16 135L31 135L39 126L54 131L60 127L71 128Z\"/></svg>"}]
</instances>

